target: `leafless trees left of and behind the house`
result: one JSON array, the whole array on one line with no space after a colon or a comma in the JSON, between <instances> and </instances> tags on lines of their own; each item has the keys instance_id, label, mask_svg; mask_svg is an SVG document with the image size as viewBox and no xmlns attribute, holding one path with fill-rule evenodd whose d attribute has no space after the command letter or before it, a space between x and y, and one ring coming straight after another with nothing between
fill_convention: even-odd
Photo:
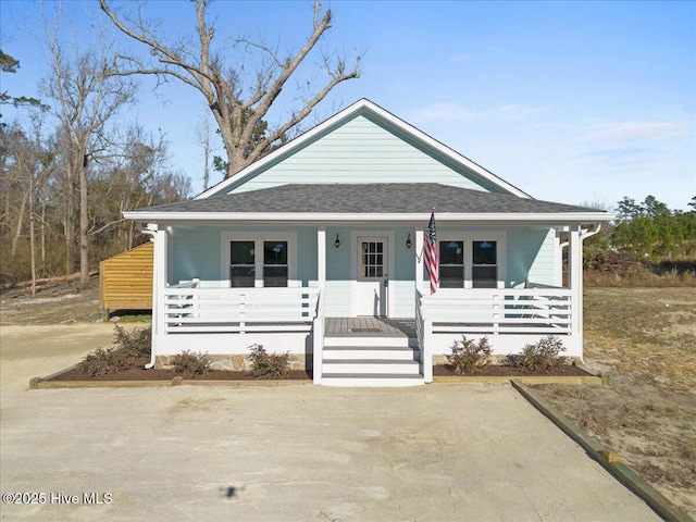
<instances>
[{"instance_id":1,"label":"leafless trees left of and behind the house","mask_svg":"<svg viewBox=\"0 0 696 522\"><path fill-rule=\"evenodd\" d=\"M162 136L153 137L137 123L119 123L136 103L138 78L154 78L158 88L172 79L195 89L211 111L226 153L226 159L212 159L213 167L229 177L299 134L332 89L360 75L362 53L348 63L343 53L314 51L333 21L332 11L322 10L319 1L308 36L294 52L245 37L215 45L209 3L194 0L191 35L167 39L147 5L116 11L100 0L104 24L136 50L104 40L101 25L92 25L91 35L71 35L69 24L61 22L62 5L50 4L49 20L41 4L41 34L35 36L50 64L39 85L41 98L0 92L0 104L21 109L23 116L7 122L0 114L0 284L79 270L86 287L101 259L145 240L134 223L122 219L123 211L191 196L190 179L167 169ZM79 50L85 46L78 40L87 36L91 41ZM318 52L319 60L308 66L307 58ZM0 50L0 66L2 73L15 74L20 61ZM311 69L323 71L326 79ZM300 83L298 74L312 80ZM294 88L287 87L290 77ZM282 92L291 109L271 126L264 117ZM210 134L204 135L208 188L211 147Z\"/></svg>"}]
</instances>

